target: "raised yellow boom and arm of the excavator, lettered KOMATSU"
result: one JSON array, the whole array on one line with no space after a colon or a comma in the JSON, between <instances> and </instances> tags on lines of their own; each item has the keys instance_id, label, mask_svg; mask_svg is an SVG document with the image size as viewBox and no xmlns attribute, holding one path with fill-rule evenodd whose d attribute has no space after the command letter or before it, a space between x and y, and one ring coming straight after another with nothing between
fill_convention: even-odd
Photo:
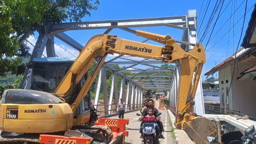
<instances>
[{"instance_id":1,"label":"raised yellow boom and arm of the excavator, lettered KOMATSU","mask_svg":"<svg viewBox=\"0 0 256 144\"><path fill-rule=\"evenodd\" d=\"M193 99L195 98L201 69L205 63L205 52L203 46L196 44L191 51L185 52L185 50L177 45L176 41L172 39L171 36L163 36L144 31L137 31L137 35L158 41L159 43L164 44L164 46L119 39L112 35L96 35L84 46L79 57L77 57L68 73L65 75L63 81L56 88L55 94L63 96L63 98L71 104L72 111L75 112L77 105L82 100L82 97L89 91L89 88L96 78L98 71L100 71L100 67L103 65L107 54L125 54L129 56L162 60L168 63L179 61L180 80L175 125L177 128L184 130L189 127L192 129L189 131L190 135L197 135L199 139L205 140L205 136L203 135L203 137L200 137L198 132L196 132L196 128L193 128L194 125L189 123L200 119L197 119L198 117L192 114L191 108L194 104ZM79 95L73 98L73 91L81 81L82 75L89 70L95 61L98 61L98 65L94 69L92 75L86 79ZM206 118L204 118L204 120L205 119ZM209 120L204 120L204 123L209 122ZM206 133L210 133L212 130L207 129L206 131ZM211 134L211 136L214 136L214 134ZM193 137L196 136L192 136L192 139Z\"/></svg>"}]
</instances>

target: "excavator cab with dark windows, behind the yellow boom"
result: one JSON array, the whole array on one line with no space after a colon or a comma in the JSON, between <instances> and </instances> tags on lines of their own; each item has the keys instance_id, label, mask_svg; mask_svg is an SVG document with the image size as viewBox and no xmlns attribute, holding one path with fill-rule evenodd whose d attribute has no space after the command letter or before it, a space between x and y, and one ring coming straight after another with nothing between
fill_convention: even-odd
<instances>
[{"instance_id":1,"label":"excavator cab with dark windows, behind the yellow boom","mask_svg":"<svg viewBox=\"0 0 256 144\"><path fill-rule=\"evenodd\" d=\"M75 58L34 58L30 63L32 69L31 90L38 90L53 93L59 86L65 74L75 61ZM75 95L78 95L82 84L86 81L87 75L81 79ZM74 113L74 124L86 124L90 120L90 92L82 98Z\"/></svg>"}]
</instances>

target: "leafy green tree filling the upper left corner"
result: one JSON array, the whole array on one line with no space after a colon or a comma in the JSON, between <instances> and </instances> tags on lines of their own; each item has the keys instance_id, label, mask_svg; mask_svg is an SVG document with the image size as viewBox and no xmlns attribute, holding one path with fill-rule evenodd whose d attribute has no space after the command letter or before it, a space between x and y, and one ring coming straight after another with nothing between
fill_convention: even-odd
<instances>
[{"instance_id":1,"label":"leafy green tree filling the upper left corner","mask_svg":"<svg viewBox=\"0 0 256 144\"><path fill-rule=\"evenodd\" d=\"M44 26L80 22L89 10L97 10L99 0L0 0L0 75L19 74L22 57L29 57L26 39Z\"/></svg>"}]
</instances>

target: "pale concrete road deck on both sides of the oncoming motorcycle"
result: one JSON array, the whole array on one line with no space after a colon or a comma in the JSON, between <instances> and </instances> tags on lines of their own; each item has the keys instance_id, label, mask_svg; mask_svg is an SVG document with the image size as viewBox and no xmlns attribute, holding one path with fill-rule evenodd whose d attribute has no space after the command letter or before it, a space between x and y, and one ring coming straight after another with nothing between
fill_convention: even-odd
<instances>
[{"instance_id":1,"label":"pale concrete road deck on both sides of the oncoming motorcycle","mask_svg":"<svg viewBox=\"0 0 256 144\"><path fill-rule=\"evenodd\" d=\"M171 144L175 143L174 138L172 138L171 127L170 127L170 117L167 114L167 110L159 110L162 112L161 121L164 125L163 135L165 139L159 139L161 144ZM129 125L126 126L126 130L129 132L128 137L125 138L125 143L142 143L142 138L139 138L141 135L139 133L139 126L141 125L141 121L138 121L139 117L136 115L139 111L125 113L125 117L129 119ZM114 116L112 118L118 118L118 116Z\"/></svg>"}]
</instances>

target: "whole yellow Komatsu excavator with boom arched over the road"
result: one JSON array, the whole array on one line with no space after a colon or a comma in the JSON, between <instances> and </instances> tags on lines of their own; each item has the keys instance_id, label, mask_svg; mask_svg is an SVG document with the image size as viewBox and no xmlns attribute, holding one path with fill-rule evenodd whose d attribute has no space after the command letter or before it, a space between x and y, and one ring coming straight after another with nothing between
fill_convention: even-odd
<instances>
[{"instance_id":1,"label":"whole yellow Komatsu excavator with boom arched over the road","mask_svg":"<svg viewBox=\"0 0 256 144\"><path fill-rule=\"evenodd\" d=\"M192 112L192 106L195 104L193 99L205 63L203 46L197 43L192 50L186 52L171 36L139 30L137 35L157 41L164 46L119 39L113 35L96 35L84 46L75 62L69 61L69 65L72 64L69 70L64 65L59 72L56 72L57 70L42 72L34 69L35 74L32 78L34 82L31 86L34 90L6 90L2 95L0 105L2 134L23 133L31 136L31 133L61 133L69 129L85 129L85 124L88 124L90 118L88 95L90 86L106 56L117 53L168 63L179 61L180 81L175 126L184 129L197 143L207 143L207 137L216 137L217 128L213 122ZM90 75L86 75L94 62L97 62L97 66ZM55 62L55 65L61 66L61 63ZM50 77L52 73L62 73L63 77L55 76L48 79L43 77L46 75ZM49 91L43 92L44 87ZM91 126L90 129L101 129L102 132L102 129L107 128ZM38 142L36 138L38 137L22 139L2 136L0 142ZM110 135L105 139L110 140Z\"/></svg>"}]
</instances>

